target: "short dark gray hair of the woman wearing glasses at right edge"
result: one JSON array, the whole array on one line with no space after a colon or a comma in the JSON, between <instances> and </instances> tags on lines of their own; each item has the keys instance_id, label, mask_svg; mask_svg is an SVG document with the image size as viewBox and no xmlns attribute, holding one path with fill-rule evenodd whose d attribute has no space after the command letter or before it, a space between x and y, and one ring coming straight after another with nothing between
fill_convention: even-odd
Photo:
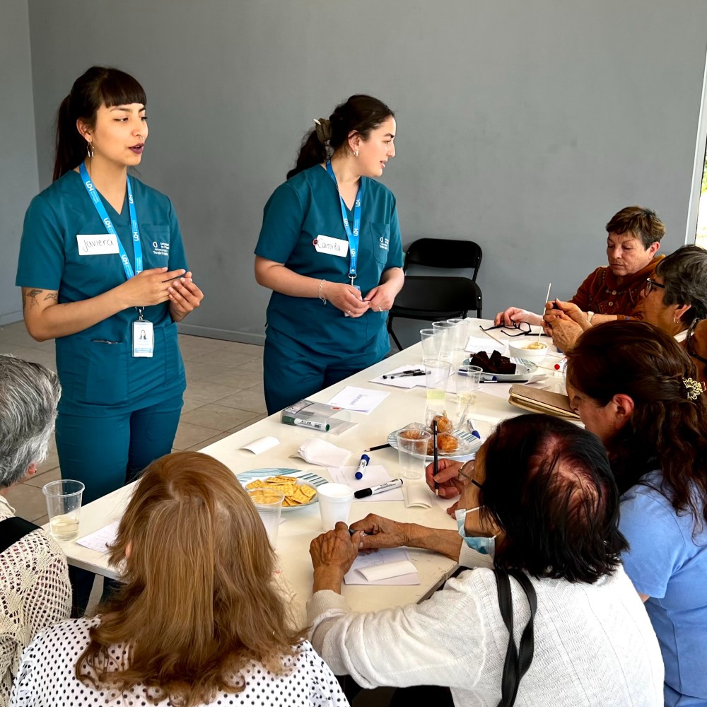
<instances>
[{"instance_id":1,"label":"short dark gray hair of the woman wearing glasses at right edge","mask_svg":"<svg viewBox=\"0 0 707 707\"><path fill-rule=\"evenodd\" d=\"M655 274L663 279L666 305L691 305L682 321L707 317L707 250L684 245L658 262Z\"/></svg>"}]
</instances>

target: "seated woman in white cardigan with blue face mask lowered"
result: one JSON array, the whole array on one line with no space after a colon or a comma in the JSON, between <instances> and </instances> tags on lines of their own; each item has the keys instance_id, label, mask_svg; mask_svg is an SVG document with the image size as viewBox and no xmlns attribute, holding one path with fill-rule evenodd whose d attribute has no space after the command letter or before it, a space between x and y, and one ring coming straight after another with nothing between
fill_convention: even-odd
<instances>
[{"instance_id":1,"label":"seated woman in white cardigan with blue face mask lowered","mask_svg":"<svg viewBox=\"0 0 707 707\"><path fill-rule=\"evenodd\" d=\"M621 568L619 493L600 440L567 421L520 416L502 422L461 473L459 532L369 515L351 525L352 537L339 523L312 541L308 620L332 670L365 687L446 686L457 707L498 704L509 633L496 571L506 570L530 579L537 595L518 703L662 705L660 652ZM404 545L460 563L465 549L480 551L496 571L464 571L419 604L351 612L339 592L359 546ZM521 584L511 584L509 623L520 636L531 609Z\"/></svg>"}]
</instances>

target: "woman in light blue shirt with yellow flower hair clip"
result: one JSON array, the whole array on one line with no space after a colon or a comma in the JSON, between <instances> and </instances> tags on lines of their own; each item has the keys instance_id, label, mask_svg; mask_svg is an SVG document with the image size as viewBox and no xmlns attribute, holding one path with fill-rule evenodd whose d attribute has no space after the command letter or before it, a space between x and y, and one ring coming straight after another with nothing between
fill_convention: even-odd
<instances>
[{"instance_id":1,"label":"woman in light blue shirt with yellow flower hair clip","mask_svg":"<svg viewBox=\"0 0 707 707\"><path fill-rule=\"evenodd\" d=\"M568 359L571 404L606 445L624 494L623 562L658 634L665 704L705 705L707 402L694 364L641 322L592 327Z\"/></svg>"}]
</instances>

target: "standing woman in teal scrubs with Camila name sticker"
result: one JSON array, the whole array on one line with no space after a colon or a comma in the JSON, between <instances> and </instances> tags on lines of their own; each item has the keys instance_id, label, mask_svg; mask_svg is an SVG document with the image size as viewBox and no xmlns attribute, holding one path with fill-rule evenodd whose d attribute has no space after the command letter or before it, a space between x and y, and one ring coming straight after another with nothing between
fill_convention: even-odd
<instances>
[{"instance_id":1,"label":"standing woman in teal scrubs with Camila name sticker","mask_svg":"<svg viewBox=\"0 0 707 707\"><path fill-rule=\"evenodd\" d=\"M395 156L395 117L352 95L303 142L264 209L255 277L273 293L263 358L270 414L387 354L402 288L395 197L377 182Z\"/></svg>"}]
</instances>

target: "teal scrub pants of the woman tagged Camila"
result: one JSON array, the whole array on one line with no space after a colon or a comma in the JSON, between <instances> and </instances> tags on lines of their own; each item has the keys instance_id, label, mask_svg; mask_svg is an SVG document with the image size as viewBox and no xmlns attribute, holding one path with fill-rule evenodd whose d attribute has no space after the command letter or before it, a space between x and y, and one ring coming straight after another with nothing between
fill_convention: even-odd
<instances>
[{"instance_id":1,"label":"teal scrub pants of the woman tagged Camila","mask_svg":"<svg viewBox=\"0 0 707 707\"><path fill-rule=\"evenodd\" d=\"M293 346L292 339L289 342L286 346L265 337L263 388L269 415L373 366L387 353L387 349L382 354L373 349L353 356L343 351L333 356Z\"/></svg>"}]
</instances>

